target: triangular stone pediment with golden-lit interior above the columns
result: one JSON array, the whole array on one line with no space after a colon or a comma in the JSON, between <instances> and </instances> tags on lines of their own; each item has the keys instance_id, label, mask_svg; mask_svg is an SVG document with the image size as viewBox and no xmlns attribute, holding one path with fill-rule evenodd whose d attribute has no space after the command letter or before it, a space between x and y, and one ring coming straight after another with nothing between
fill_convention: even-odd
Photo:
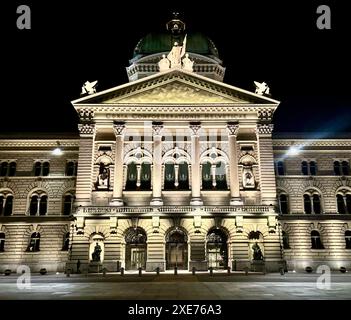
<instances>
[{"instance_id":1,"label":"triangular stone pediment with golden-lit interior above the columns","mask_svg":"<svg viewBox=\"0 0 351 320\"><path fill-rule=\"evenodd\" d=\"M183 70L160 72L75 104L278 104L279 101Z\"/></svg>"}]
</instances>

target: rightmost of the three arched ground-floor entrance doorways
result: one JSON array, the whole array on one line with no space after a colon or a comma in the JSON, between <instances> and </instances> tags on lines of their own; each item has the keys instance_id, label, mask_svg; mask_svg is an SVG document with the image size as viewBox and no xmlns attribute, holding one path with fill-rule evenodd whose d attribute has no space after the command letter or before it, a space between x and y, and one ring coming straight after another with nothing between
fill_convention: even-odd
<instances>
[{"instance_id":1,"label":"rightmost of the three arched ground-floor entrance doorways","mask_svg":"<svg viewBox=\"0 0 351 320\"><path fill-rule=\"evenodd\" d=\"M208 267L225 269L228 267L228 237L222 229L212 229L206 238Z\"/></svg>"}]
</instances>

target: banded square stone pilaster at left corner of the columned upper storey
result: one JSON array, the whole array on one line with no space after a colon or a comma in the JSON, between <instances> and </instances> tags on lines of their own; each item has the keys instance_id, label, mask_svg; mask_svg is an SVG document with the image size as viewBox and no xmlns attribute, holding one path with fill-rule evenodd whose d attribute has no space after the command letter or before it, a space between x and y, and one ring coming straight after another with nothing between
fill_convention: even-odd
<instances>
[{"instance_id":1,"label":"banded square stone pilaster at left corner of the columned upper storey","mask_svg":"<svg viewBox=\"0 0 351 320\"><path fill-rule=\"evenodd\" d=\"M95 125L93 123L78 124L79 155L76 180L76 205L91 205L92 175L94 160Z\"/></svg>"}]
</instances>

